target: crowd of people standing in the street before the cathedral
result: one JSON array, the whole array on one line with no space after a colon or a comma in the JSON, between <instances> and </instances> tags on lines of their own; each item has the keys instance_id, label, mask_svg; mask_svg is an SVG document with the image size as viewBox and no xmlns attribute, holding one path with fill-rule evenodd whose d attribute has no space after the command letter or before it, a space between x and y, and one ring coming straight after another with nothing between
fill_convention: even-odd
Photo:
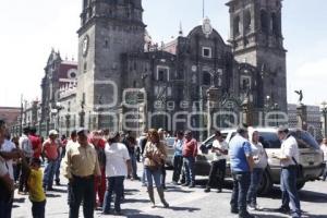
<instances>
[{"instance_id":1,"label":"crowd of people standing in the street before the cathedral","mask_svg":"<svg viewBox=\"0 0 327 218\"><path fill-rule=\"evenodd\" d=\"M282 204L278 211L301 217L296 191L296 140L286 128L279 129L277 134L282 142L280 154L274 155L281 165ZM53 183L61 185L60 173L69 181L70 218L78 217L81 205L86 218L94 217L97 208L105 215L121 215L125 179L142 181L142 185L147 187L150 207L157 206L154 194L156 187L162 206L167 208L170 205L165 197L165 164L168 157L166 136L168 133L162 129L150 129L136 141L132 132L89 132L82 128L72 131L69 138L65 135L59 137L58 131L51 130L48 138L44 140L36 134L36 129L25 128L21 137L11 137L5 123L0 121L0 217L11 217L15 186L19 194L29 195L33 217L45 217L45 193L53 191ZM171 181L173 185L192 189L195 186L197 142L191 131L178 131L174 136ZM137 174L137 146L143 162L142 177ZM326 138L322 150L326 160ZM217 187L217 193L222 192L229 158L233 179L231 213L238 214L240 218L254 217L249 211L263 209L257 204L256 196L268 165L267 154L259 143L259 133L255 129L240 126L228 144L221 132L217 131L209 152L214 158L204 192L210 192L213 187ZM327 170L323 180L326 180L326 174Z\"/></svg>"}]
</instances>

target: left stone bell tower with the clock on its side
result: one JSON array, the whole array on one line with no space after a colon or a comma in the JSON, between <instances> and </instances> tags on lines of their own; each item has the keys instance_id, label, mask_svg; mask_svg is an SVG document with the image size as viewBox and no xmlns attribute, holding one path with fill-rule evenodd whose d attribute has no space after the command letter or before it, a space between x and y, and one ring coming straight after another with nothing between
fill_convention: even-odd
<instances>
[{"instance_id":1,"label":"left stone bell tower with the clock on its side","mask_svg":"<svg viewBox=\"0 0 327 218\"><path fill-rule=\"evenodd\" d=\"M77 105L114 111L122 99L122 55L141 52L142 0L83 0L78 33Z\"/></svg>"}]
</instances>

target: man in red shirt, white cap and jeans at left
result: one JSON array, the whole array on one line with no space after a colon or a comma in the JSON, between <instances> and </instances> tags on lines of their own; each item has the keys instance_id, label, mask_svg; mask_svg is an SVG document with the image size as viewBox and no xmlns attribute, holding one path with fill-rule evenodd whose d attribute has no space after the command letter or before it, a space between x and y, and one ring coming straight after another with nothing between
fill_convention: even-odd
<instances>
[{"instance_id":1,"label":"man in red shirt, white cap and jeans at left","mask_svg":"<svg viewBox=\"0 0 327 218\"><path fill-rule=\"evenodd\" d=\"M44 143L43 154L47 158L47 166L44 175L44 187L47 191L53 191L52 183L56 172L57 160L59 157L59 144L57 141L58 132L51 130L49 132L49 138Z\"/></svg>"}]
</instances>

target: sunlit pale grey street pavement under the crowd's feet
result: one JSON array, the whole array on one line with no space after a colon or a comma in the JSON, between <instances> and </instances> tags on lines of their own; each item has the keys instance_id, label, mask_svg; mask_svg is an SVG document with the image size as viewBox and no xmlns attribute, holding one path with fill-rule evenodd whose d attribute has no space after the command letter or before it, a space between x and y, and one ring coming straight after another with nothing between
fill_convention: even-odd
<instances>
[{"instance_id":1,"label":"sunlit pale grey street pavement under the crowd's feet","mask_svg":"<svg viewBox=\"0 0 327 218\"><path fill-rule=\"evenodd\" d=\"M142 166L138 165L138 169ZM142 172L138 172L141 175ZM216 218L216 217L238 217L230 214L231 184L228 182L222 193L216 193L211 189L210 193L204 193L206 178L198 178L196 187L189 189L170 184L172 171L167 171L168 190L166 191L169 208L164 208L158 195L156 203L158 207L150 208L146 187L141 185L140 181L125 181L125 201L122 204L123 216L135 218ZM53 192L47 192L47 218L69 217L69 206L66 204L66 180L62 178L63 185L53 186ZM301 206L304 211L303 217L327 218L327 182L315 181L305 184L300 192ZM257 217L279 218L289 217L274 211L280 206L280 192L276 187L269 195L259 196L258 204L264 207L262 211L255 211ZM26 195L15 193L12 217L28 218L32 217L31 203ZM82 208L80 217L83 217ZM95 211L95 217L114 217L113 215L101 215L100 210ZM119 217L119 216L117 216Z\"/></svg>"}]
</instances>

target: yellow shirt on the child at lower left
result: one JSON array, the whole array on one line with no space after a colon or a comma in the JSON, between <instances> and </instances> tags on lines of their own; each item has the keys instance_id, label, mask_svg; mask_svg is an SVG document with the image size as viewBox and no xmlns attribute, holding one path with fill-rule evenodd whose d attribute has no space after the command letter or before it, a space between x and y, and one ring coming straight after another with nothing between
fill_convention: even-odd
<instances>
[{"instance_id":1,"label":"yellow shirt on the child at lower left","mask_svg":"<svg viewBox=\"0 0 327 218\"><path fill-rule=\"evenodd\" d=\"M31 173L27 180L29 189L31 202L43 202L46 199L46 195L43 187L43 171L41 169L31 169Z\"/></svg>"}]
</instances>

